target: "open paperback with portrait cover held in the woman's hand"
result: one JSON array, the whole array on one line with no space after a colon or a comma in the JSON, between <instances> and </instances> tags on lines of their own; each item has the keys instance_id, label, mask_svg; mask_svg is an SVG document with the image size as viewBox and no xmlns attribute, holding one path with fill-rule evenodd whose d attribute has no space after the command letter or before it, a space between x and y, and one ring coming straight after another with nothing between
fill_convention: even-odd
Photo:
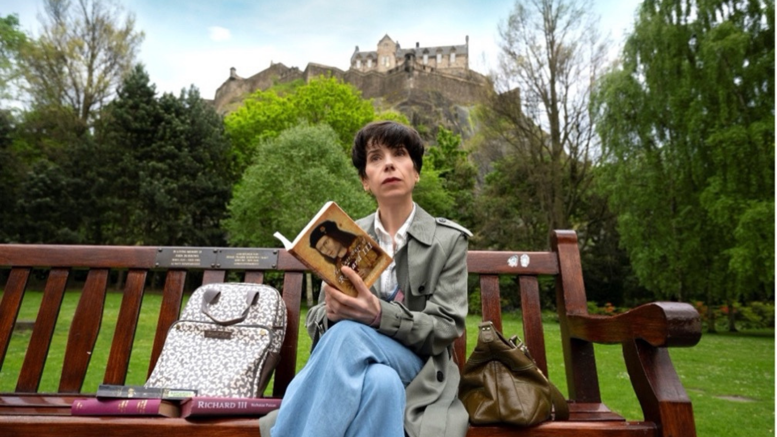
<instances>
[{"instance_id":1,"label":"open paperback with portrait cover held in the woman's hand","mask_svg":"<svg viewBox=\"0 0 777 437\"><path fill-rule=\"evenodd\" d=\"M392 262L388 253L364 232L333 201L328 201L312 218L294 242L280 232L274 234L286 250L315 271L327 284L347 295L357 295L356 288L340 270L349 266L370 287Z\"/></svg>"}]
</instances>

